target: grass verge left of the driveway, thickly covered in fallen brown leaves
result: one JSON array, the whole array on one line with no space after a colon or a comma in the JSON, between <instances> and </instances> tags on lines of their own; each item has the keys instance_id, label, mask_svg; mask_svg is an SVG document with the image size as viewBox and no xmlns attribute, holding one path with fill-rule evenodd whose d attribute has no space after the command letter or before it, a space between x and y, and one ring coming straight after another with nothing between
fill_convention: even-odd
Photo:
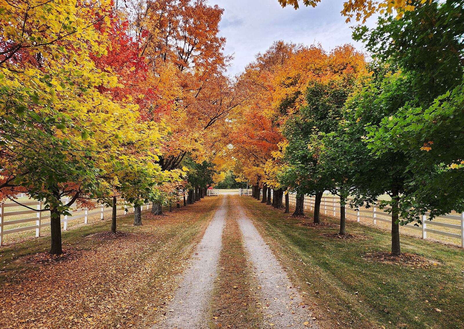
<instances>
[{"instance_id":1,"label":"grass verge left of the driveway, thickly covered in fallen brown leaves","mask_svg":"<svg viewBox=\"0 0 464 329\"><path fill-rule=\"evenodd\" d=\"M63 232L66 255L46 256L50 237L0 249L2 328L149 328L167 312L180 273L218 206L207 197L164 216L142 213ZM45 257L44 257L45 256Z\"/></svg>"}]
</instances>

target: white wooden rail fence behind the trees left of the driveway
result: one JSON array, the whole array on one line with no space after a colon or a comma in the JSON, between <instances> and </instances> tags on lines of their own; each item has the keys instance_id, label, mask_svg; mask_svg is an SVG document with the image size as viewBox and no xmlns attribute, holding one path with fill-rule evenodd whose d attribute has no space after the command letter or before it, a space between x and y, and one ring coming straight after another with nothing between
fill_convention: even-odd
<instances>
[{"instance_id":1,"label":"white wooden rail fence behind the trees left of the driveway","mask_svg":"<svg viewBox=\"0 0 464 329\"><path fill-rule=\"evenodd\" d=\"M69 202L69 200L64 199L63 202L67 203ZM16 203L5 204L3 202L0 204L0 245L3 244L3 237L7 234L22 232L26 230L35 230L35 236L40 237L41 229L43 227L50 226L50 211L39 211L43 209L42 207L43 207L44 202L28 201L28 202L21 202L21 204L28 206L30 208L36 208L38 211L30 210L30 209L20 210L20 211L8 211L8 208L20 207L21 205L16 204ZM134 210L132 204L126 204L124 203L123 200L118 200L118 204L124 206L126 213L129 212L130 208ZM148 209L149 204L143 204L142 207L144 207L145 205L147 206L147 209ZM64 216L64 218L61 219L61 223L64 223L63 229L64 230L68 229L68 221L76 220L79 218L84 218L84 224L87 224L89 216L100 214L100 218L103 219L103 214L105 212L112 211L112 208L105 207L103 204L95 203L95 206L96 208L94 209L71 208L69 211L71 213L71 216ZM83 214L76 214L72 216L72 214L79 213L82 211L84 211ZM35 214L35 217L6 220L8 217L11 217L11 216L26 215L26 214ZM8 230L5 229L5 227L9 225L22 224L22 223L33 223L33 222L35 222L34 225L15 227L15 228L8 229Z\"/></svg>"}]
</instances>

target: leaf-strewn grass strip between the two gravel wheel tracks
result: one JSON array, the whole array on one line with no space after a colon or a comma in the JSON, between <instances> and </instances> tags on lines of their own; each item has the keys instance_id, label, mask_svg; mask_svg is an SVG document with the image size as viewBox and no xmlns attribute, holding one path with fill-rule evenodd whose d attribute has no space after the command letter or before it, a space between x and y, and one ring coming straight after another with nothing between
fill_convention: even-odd
<instances>
[{"instance_id":1,"label":"leaf-strewn grass strip between the two gravel wheel tracks","mask_svg":"<svg viewBox=\"0 0 464 329\"><path fill-rule=\"evenodd\" d=\"M219 275L211 298L209 328L256 329L263 322L258 285L246 260L237 213L229 198L219 255Z\"/></svg>"}]
</instances>

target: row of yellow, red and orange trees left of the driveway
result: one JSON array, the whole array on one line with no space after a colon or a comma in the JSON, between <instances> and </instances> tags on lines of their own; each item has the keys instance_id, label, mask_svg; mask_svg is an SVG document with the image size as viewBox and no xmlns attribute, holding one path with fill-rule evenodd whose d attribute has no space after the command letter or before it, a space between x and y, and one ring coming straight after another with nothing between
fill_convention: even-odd
<instances>
[{"instance_id":1,"label":"row of yellow, red and orange trees left of the driveway","mask_svg":"<svg viewBox=\"0 0 464 329\"><path fill-rule=\"evenodd\" d=\"M69 207L194 202L213 183L226 117L248 94L224 74L222 9L203 0L13 0L0 10L0 198ZM64 199L69 202L64 202ZM187 200L186 200L187 202ZM116 216L112 230L116 230Z\"/></svg>"}]
</instances>

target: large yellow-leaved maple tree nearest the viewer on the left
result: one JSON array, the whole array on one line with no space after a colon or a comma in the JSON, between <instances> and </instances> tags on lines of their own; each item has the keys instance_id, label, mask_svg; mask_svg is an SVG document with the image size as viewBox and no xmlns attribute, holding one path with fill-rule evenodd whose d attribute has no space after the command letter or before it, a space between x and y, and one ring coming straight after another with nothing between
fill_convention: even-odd
<instances>
[{"instance_id":1,"label":"large yellow-leaved maple tree nearest the viewer on the left","mask_svg":"<svg viewBox=\"0 0 464 329\"><path fill-rule=\"evenodd\" d=\"M160 134L140 120L131 99L111 97L118 78L94 61L108 51L110 1L17 1L4 8L0 190L13 201L18 191L45 201L51 253L60 254L60 216L74 202L91 207L90 199L110 195L116 162L137 158L128 147L147 152Z\"/></svg>"}]
</instances>

